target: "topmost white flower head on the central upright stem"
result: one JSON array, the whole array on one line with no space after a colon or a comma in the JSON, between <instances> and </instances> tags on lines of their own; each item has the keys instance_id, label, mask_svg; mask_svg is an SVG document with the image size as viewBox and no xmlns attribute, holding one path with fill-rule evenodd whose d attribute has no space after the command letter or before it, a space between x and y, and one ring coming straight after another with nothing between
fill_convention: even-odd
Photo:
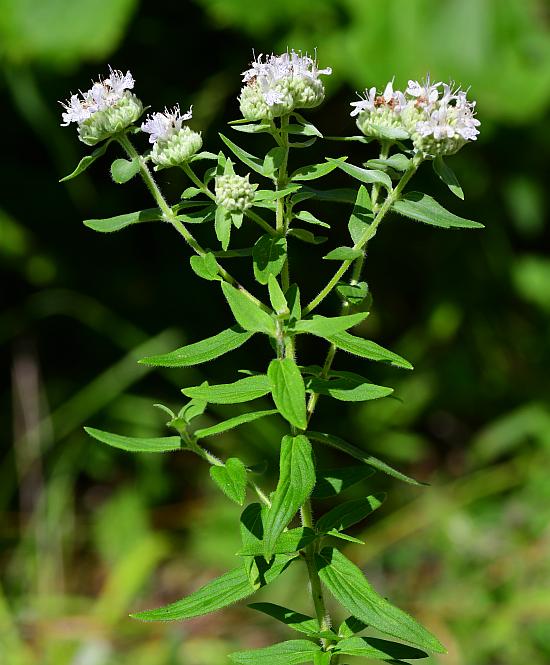
<instances>
[{"instance_id":1,"label":"topmost white flower head on the central upright stem","mask_svg":"<svg viewBox=\"0 0 550 665\"><path fill-rule=\"evenodd\" d=\"M248 120L262 120L318 106L325 97L319 76L331 73L330 67L319 69L307 53L260 54L243 73L241 113Z\"/></svg>"}]
</instances>

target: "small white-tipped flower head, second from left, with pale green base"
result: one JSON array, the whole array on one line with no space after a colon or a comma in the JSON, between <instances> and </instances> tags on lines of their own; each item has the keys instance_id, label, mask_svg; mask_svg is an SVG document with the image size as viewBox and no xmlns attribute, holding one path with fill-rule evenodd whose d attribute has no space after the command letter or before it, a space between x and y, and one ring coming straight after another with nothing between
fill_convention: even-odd
<instances>
[{"instance_id":1,"label":"small white-tipped flower head, second from left, with pale green base","mask_svg":"<svg viewBox=\"0 0 550 665\"><path fill-rule=\"evenodd\" d=\"M151 159L157 166L178 166L201 149L201 135L183 124L193 117L192 108L183 115L179 106L164 109L164 113L153 113L142 123L141 130L149 134L153 144Z\"/></svg>"}]
</instances>

